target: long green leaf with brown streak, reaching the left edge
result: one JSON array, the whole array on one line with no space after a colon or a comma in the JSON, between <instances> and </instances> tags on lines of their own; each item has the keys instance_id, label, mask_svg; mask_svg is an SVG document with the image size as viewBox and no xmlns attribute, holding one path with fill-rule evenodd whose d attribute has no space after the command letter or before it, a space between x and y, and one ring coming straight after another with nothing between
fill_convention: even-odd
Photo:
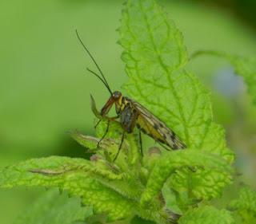
<instances>
[{"instance_id":1,"label":"long green leaf with brown streak, reaching the left edge","mask_svg":"<svg viewBox=\"0 0 256 224\"><path fill-rule=\"evenodd\" d=\"M94 175L91 175L91 171ZM104 172L111 174L110 171ZM136 205L117 191L104 186L95 174L96 171L90 170L90 162L85 159L56 156L30 159L3 168L0 171L0 187L59 187L61 191L66 190L70 195L81 197L82 202L92 205L96 213L106 212L109 220L134 214Z\"/></svg>"}]
</instances>

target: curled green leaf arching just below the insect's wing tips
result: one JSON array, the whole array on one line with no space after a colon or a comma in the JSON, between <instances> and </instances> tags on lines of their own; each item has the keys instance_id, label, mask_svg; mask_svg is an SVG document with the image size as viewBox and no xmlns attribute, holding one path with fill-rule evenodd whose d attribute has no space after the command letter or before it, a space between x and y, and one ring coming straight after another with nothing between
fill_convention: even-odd
<instances>
[{"instance_id":1,"label":"curled green leaf arching just below the insect's wing tips","mask_svg":"<svg viewBox=\"0 0 256 224\"><path fill-rule=\"evenodd\" d=\"M174 172L177 172L177 170L182 167L201 167L203 171L216 171L217 173L224 173L226 175L230 175L231 171L230 164L219 156L194 149L172 151L163 156L162 159L160 159L154 166L153 171L150 173L150 178L148 179L146 189L142 194L141 202L143 204L149 203L161 192L164 183L166 183L166 180L170 177L170 175L174 174ZM201 176L201 178L204 179L204 181L200 182L201 184L198 184L198 178L194 178L194 175L192 175L191 172L193 173L193 171L190 171L190 175L192 176L190 180L190 188L193 189L193 191L198 191L197 187L200 186L200 189L202 190L201 195L203 195L205 193L203 191L204 188L208 187L206 185L207 183L210 183L209 187L213 188L212 191L219 191L218 187L214 187L216 181L214 178L210 179L210 175L206 176L205 179L200 172L196 171L197 174L199 173L198 176ZM230 178L223 180L222 184L227 183L230 183Z\"/></svg>"}]
</instances>

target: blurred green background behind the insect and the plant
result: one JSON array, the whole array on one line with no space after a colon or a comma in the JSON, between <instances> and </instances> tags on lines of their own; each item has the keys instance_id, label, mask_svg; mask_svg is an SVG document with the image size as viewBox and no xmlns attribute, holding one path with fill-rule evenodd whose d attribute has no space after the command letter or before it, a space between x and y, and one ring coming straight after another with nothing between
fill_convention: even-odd
<instances>
[{"instance_id":1,"label":"blurred green background behind the insect and the plant","mask_svg":"<svg viewBox=\"0 0 256 224\"><path fill-rule=\"evenodd\" d=\"M0 166L48 155L86 156L69 130L94 134L90 93L98 106L109 96L86 73L94 68L74 30L96 57L112 88L127 77L116 44L123 1L0 2ZM256 53L254 0L160 1L184 34L189 53L215 49ZM225 61L202 57L190 70L211 89L214 119L237 153L241 181L256 186L256 109L242 78ZM0 190L0 223L12 223L43 189Z\"/></svg>"}]
</instances>

